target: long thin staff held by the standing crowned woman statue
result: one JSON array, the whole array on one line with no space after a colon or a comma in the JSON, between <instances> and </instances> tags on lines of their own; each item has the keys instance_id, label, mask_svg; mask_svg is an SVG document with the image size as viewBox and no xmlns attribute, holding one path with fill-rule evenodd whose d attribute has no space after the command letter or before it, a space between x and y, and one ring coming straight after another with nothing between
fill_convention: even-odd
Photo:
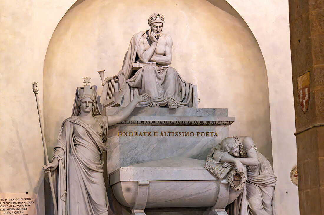
<instances>
[{"instance_id":1,"label":"long thin staff held by the standing crowned woman statue","mask_svg":"<svg viewBox=\"0 0 324 215\"><path fill-rule=\"evenodd\" d=\"M45 164L47 166L47 165L49 165L49 162L48 162L47 148L46 148L46 143L45 143L44 129L43 129L43 124L42 124L42 120L41 120L41 108L40 108L40 104L39 104L39 101L38 101L38 95L37 95L38 94L37 83L35 81L33 82L33 91L34 91L35 97L36 97L36 104L37 104L37 110L38 110L38 118L40 119L40 125L41 125L41 138L43 140L43 147L44 147ZM54 192L54 186L53 186L53 180L52 180L51 171L48 174L48 180L50 181L50 186L51 186L51 192L52 192L52 198L53 198L53 205L54 205L54 214L57 215L57 204L56 204L56 198L55 198L55 192Z\"/></svg>"}]
</instances>

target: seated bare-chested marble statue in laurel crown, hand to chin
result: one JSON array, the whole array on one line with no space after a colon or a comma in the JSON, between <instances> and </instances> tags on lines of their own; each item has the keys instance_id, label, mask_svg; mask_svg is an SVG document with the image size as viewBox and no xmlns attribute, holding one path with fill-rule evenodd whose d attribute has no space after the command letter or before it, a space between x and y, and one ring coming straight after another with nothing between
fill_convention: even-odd
<instances>
[{"instance_id":1,"label":"seated bare-chested marble statue in laurel crown, hand to chin","mask_svg":"<svg viewBox=\"0 0 324 215\"><path fill-rule=\"evenodd\" d=\"M119 80L121 88L123 87L119 94L124 92L126 95L124 88L128 85L133 87L131 89L134 92L138 91L139 95L149 95L148 101L141 102L137 107L193 107L192 84L184 81L177 70L169 67L172 60L172 38L162 33L163 22L164 16L161 13L152 14L148 20L149 30L132 37L119 72L124 76L123 80ZM144 66L134 68L134 63Z\"/></svg>"}]
</instances>

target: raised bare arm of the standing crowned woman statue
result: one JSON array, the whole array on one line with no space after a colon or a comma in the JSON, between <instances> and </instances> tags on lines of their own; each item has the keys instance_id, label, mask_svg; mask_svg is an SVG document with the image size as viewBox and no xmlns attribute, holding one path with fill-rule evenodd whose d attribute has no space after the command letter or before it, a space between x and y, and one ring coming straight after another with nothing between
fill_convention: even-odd
<instances>
[{"instance_id":1,"label":"raised bare arm of the standing crowned woman statue","mask_svg":"<svg viewBox=\"0 0 324 215\"><path fill-rule=\"evenodd\" d=\"M112 126L123 121L132 113L132 111L134 110L134 108L138 103L147 101L148 96L149 95L147 93L141 96L140 95L134 96L133 100L125 108L122 108L119 112L117 112L114 115L108 116L108 125Z\"/></svg>"}]
</instances>

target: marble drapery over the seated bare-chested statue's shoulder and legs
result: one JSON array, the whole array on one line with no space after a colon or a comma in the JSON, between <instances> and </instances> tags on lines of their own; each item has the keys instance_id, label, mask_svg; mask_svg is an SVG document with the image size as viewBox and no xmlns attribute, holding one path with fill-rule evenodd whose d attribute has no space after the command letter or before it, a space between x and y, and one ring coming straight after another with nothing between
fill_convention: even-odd
<instances>
[{"instance_id":1,"label":"marble drapery over the seated bare-chested statue's shoulder and legs","mask_svg":"<svg viewBox=\"0 0 324 215\"><path fill-rule=\"evenodd\" d=\"M178 107L192 107L192 84L182 79L172 67L154 67L146 65L136 71L134 76L133 63L141 62L137 56L137 47L146 31L141 31L132 37L124 58L122 70L126 83L138 88L139 94L147 93L148 101L139 103L139 107L149 107L152 104L166 106L168 101L174 101Z\"/></svg>"}]
</instances>

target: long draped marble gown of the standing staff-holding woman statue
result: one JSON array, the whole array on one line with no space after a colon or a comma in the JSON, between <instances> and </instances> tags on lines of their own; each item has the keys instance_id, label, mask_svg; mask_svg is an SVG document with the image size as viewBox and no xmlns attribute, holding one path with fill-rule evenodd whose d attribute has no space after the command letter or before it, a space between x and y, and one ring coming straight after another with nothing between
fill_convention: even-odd
<instances>
[{"instance_id":1,"label":"long draped marble gown of the standing staff-holding woman statue","mask_svg":"<svg viewBox=\"0 0 324 215\"><path fill-rule=\"evenodd\" d=\"M59 215L108 215L103 179L103 140L107 137L107 116L94 116L92 125L77 117L64 120L54 148L59 160L53 178Z\"/></svg>"}]
</instances>

